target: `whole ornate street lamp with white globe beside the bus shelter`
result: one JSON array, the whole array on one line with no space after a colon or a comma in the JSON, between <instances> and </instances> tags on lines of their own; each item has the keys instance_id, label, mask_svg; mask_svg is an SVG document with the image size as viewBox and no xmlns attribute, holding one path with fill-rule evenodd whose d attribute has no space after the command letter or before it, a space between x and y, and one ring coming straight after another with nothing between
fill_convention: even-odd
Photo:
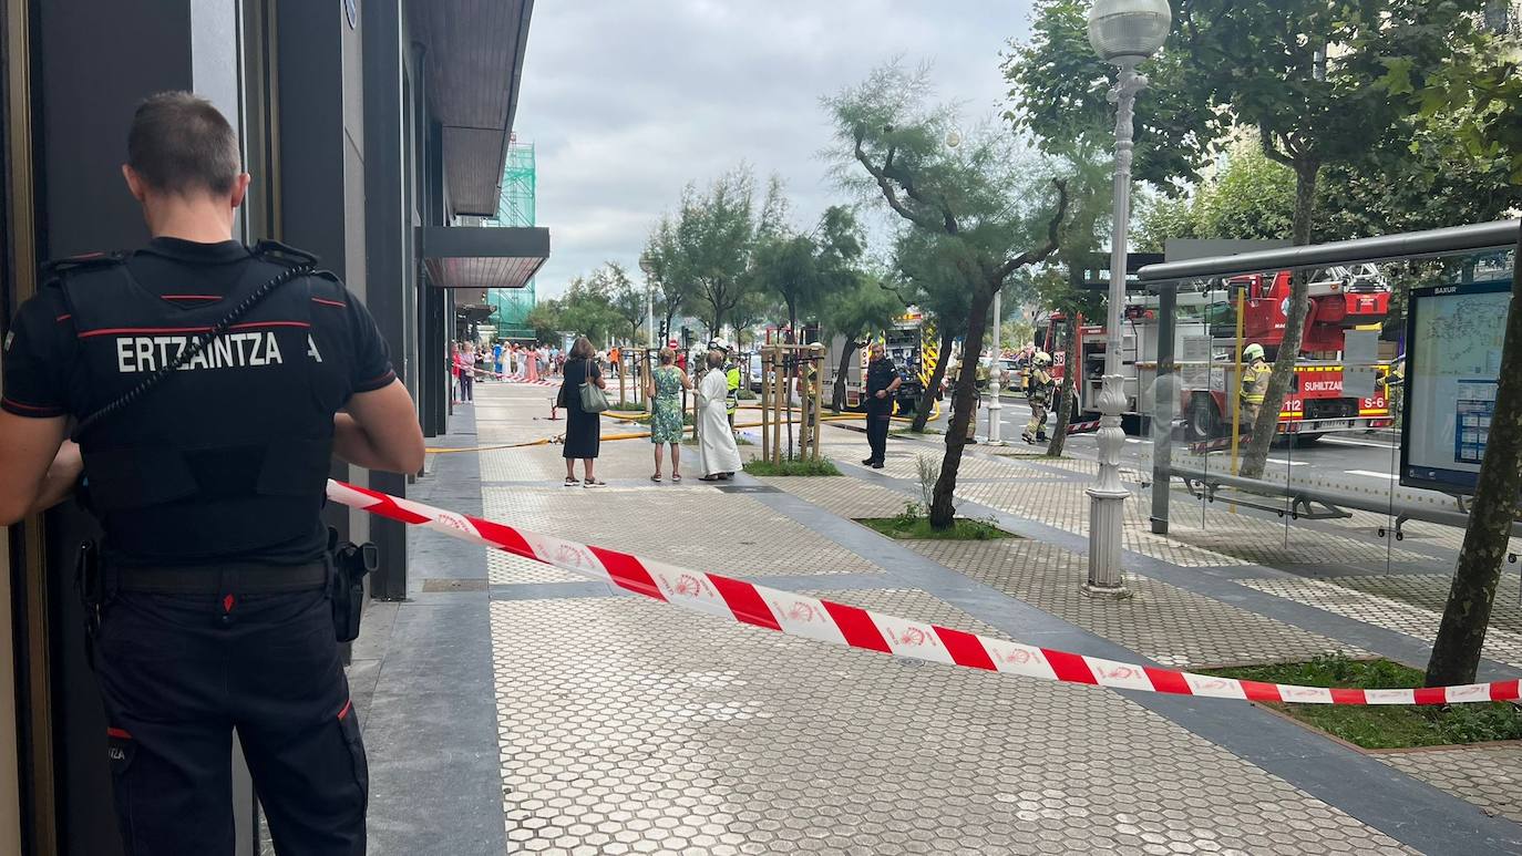
<instances>
[{"instance_id":1,"label":"whole ornate street lamp with white globe beside the bus shelter","mask_svg":"<svg viewBox=\"0 0 1522 856\"><path fill-rule=\"evenodd\" d=\"M1132 108L1146 78L1137 65L1157 53L1173 23L1167 0L1094 0L1088 9L1088 44L1099 58L1119 67L1110 100L1116 103L1116 213L1110 239L1110 319L1105 338L1105 376L1099 392L1099 480L1088 488L1088 581L1090 598L1125 598L1120 576L1120 525L1131 493L1120 483L1120 449L1125 433L1120 414L1126 409L1120 376L1120 325L1126 303L1126 237L1131 220Z\"/></svg>"}]
</instances>

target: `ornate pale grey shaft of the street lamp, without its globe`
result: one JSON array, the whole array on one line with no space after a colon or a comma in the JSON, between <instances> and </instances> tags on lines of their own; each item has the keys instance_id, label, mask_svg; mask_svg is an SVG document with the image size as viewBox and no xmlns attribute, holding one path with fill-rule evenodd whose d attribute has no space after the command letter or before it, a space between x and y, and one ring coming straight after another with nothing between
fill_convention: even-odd
<instances>
[{"instance_id":1,"label":"ornate pale grey shaft of the street lamp, without its globe","mask_svg":"<svg viewBox=\"0 0 1522 856\"><path fill-rule=\"evenodd\" d=\"M1088 488L1088 581L1090 598L1126 598L1120 578L1120 525L1129 491L1120 483L1120 449L1125 432L1120 414L1126 409L1125 379L1120 377L1120 324L1126 303L1126 236L1131 227L1131 151L1132 116L1137 93L1146 78L1137 75L1138 56L1120 56L1120 75L1110 99L1116 102L1116 214L1110 239L1110 324L1105 344L1105 377L1099 392L1099 482Z\"/></svg>"}]
</instances>

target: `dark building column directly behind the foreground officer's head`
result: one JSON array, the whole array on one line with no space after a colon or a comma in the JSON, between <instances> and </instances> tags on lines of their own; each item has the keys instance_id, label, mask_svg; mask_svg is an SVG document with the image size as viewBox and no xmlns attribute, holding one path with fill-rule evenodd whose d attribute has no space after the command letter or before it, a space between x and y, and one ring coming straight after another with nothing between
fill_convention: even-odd
<instances>
[{"instance_id":1,"label":"dark building column directly behind the foreground officer's head","mask_svg":"<svg viewBox=\"0 0 1522 856\"><path fill-rule=\"evenodd\" d=\"M239 123L237 3L161 0L151 15L119 0L47 0L30 9L37 257L140 246L148 230L120 172L132 113L149 94L193 90ZM47 590L17 596L46 604L46 626L29 625L26 634L47 636L50 820L59 853L113 856L122 848L110 809L105 716L73 590L75 547L96 526L65 503L47 514L44 532ZM234 774L234 800L244 833L237 853L253 853L253 791L244 772ZM46 801L32 795L33 806Z\"/></svg>"}]
</instances>

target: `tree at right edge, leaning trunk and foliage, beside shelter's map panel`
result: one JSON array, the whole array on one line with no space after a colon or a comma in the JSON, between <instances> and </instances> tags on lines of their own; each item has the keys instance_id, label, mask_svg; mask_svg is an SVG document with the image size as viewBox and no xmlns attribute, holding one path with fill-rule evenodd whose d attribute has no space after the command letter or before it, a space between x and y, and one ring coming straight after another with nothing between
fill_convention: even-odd
<instances>
[{"instance_id":1,"label":"tree at right edge, leaning trunk and foliage, beside shelter's map panel","mask_svg":"<svg viewBox=\"0 0 1522 856\"><path fill-rule=\"evenodd\" d=\"M1415 103L1429 122L1457 116L1457 138L1475 155L1504 158L1511 179L1522 181L1522 67L1516 44L1476 29L1478 3L1438 3L1429 38L1455 46L1450 61L1423 70L1405 58L1390 64L1382 90ZM1444 17L1446 15L1446 17ZM1435 33L1435 35L1434 35ZM1517 236L1522 258L1522 234ZM1428 661L1428 686L1475 680L1490 625L1508 537L1522 494L1522 277L1511 277L1511 307L1501 345L1501 373L1485 456L1454 569L1443 623Z\"/></svg>"}]
</instances>

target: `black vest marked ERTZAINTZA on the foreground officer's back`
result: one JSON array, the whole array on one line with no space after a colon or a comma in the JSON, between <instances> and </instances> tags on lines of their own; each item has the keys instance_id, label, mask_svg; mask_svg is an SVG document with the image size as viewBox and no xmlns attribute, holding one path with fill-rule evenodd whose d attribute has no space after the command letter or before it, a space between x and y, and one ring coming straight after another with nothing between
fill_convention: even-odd
<instances>
[{"instance_id":1,"label":"black vest marked ERTZAINTZA on the foreground officer's back","mask_svg":"<svg viewBox=\"0 0 1522 856\"><path fill-rule=\"evenodd\" d=\"M78 336L75 417L174 360L289 265L262 245L222 300L190 306L145 289L122 257L59 271ZM320 555L347 351L314 328L314 298L342 301L344 290L329 275L280 286L202 354L78 438L107 556L163 566L259 561L289 558L306 543Z\"/></svg>"}]
</instances>

